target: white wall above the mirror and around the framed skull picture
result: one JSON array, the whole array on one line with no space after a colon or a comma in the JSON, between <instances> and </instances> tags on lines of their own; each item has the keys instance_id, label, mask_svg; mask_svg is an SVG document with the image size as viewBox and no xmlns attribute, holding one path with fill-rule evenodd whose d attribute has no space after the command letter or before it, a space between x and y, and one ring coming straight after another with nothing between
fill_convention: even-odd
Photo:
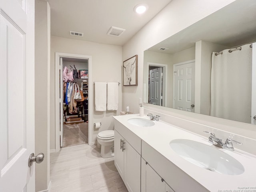
<instances>
[{"instance_id":1,"label":"white wall above the mirror and around the framed skull picture","mask_svg":"<svg viewBox=\"0 0 256 192\"><path fill-rule=\"evenodd\" d=\"M122 109L126 105L139 112L138 98L143 98L143 52L162 40L176 34L198 20L212 14L234 0L173 0L123 46L123 61L138 55L138 86L122 88Z\"/></svg>"}]
</instances>

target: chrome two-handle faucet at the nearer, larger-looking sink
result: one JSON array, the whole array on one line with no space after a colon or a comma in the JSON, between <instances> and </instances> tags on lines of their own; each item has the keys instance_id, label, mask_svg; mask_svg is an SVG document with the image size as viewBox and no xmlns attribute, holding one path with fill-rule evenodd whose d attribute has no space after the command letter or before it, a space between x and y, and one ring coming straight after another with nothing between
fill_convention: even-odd
<instances>
[{"instance_id":1,"label":"chrome two-handle faucet at the nearer, larger-looking sink","mask_svg":"<svg viewBox=\"0 0 256 192\"><path fill-rule=\"evenodd\" d=\"M223 144L222 139L217 138L214 133L207 132L207 131L204 131L204 132L210 134L210 137L208 138L209 143L211 143L217 147L220 147L220 148L223 148L223 149L226 149L229 151L234 151L232 142L234 142L238 145L242 145L242 143L232 140L230 138L227 138L225 144Z\"/></svg>"}]
</instances>

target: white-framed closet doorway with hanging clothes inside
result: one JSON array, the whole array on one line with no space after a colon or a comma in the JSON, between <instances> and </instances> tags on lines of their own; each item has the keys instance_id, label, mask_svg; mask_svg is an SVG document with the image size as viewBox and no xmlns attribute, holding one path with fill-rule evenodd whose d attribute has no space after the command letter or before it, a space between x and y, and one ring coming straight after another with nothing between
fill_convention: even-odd
<instances>
[{"instance_id":1,"label":"white-framed closet doorway with hanging clothes inside","mask_svg":"<svg viewBox=\"0 0 256 192\"><path fill-rule=\"evenodd\" d=\"M55 58L57 152L60 147L90 144L89 112L92 105L89 99L89 74L92 73L91 56L56 53ZM78 92L81 100L74 98Z\"/></svg>"}]
</instances>

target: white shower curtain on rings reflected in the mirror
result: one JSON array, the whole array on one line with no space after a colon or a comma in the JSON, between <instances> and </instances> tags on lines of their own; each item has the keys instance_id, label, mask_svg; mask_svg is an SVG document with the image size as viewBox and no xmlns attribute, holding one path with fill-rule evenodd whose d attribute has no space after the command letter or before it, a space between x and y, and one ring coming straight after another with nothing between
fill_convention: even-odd
<instances>
[{"instance_id":1,"label":"white shower curtain on rings reflected in the mirror","mask_svg":"<svg viewBox=\"0 0 256 192\"><path fill-rule=\"evenodd\" d=\"M250 123L252 48L250 44L241 48L212 53L210 115Z\"/></svg>"}]
</instances>

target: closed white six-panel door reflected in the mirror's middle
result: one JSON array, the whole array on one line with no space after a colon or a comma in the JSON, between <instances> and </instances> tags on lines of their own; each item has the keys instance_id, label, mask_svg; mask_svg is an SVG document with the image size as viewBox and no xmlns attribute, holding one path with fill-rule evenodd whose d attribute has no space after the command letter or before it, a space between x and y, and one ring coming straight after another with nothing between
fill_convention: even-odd
<instances>
[{"instance_id":1,"label":"closed white six-panel door reflected in the mirror's middle","mask_svg":"<svg viewBox=\"0 0 256 192\"><path fill-rule=\"evenodd\" d=\"M195 111L195 62L174 64L173 93L173 108Z\"/></svg>"}]
</instances>

